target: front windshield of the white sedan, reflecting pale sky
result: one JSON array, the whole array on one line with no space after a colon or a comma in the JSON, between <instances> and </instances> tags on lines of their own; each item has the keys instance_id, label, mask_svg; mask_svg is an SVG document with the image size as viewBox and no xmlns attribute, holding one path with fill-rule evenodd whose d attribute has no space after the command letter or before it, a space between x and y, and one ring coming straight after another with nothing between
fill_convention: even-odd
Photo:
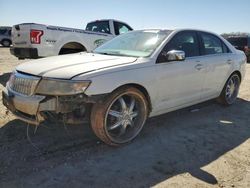
<instances>
[{"instance_id":1,"label":"front windshield of the white sedan, reflecting pale sky","mask_svg":"<svg viewBox=\"0 0 250 188\"><path fill-rule=\"evenodd\" d=\"M118 56L148 57L171 31L133 31L122 34L102 46L94 53Z\"/></svg>"}]
</instances>

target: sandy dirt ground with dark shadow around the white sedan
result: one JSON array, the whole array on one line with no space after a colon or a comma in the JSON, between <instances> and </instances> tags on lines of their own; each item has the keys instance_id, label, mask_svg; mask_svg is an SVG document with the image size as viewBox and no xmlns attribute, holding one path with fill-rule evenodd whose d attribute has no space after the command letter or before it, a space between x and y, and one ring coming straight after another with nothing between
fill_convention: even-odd
<instances>
[{"instance_id":1,"label":"sandy dirt ground with dark shadow around the white sedan","mask_svg":"<svg viewBox=\"0 0 250 188\"><path fill-rule=\"evenodd\" d=\"M23 62L0 48L1 91ZM27 129L1 103L0 187L250 187L250 64L233 106L209 101L151 118L118 148L88 124Z\"/></svg>"}]
</instances>

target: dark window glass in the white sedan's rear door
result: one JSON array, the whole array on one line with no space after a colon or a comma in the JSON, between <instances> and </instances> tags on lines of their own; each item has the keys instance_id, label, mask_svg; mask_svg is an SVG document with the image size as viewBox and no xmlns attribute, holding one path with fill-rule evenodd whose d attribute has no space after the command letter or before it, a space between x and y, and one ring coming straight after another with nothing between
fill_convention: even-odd
<instances>
[{"instance_id":1,"label":"dark window glass in the white sedan's rear door","mask_svg":"<svg viewBox=\"0 0 250 188\"><path fill-rule=\"evenodd\" d=\"M222 42L216 36L207 33L201 33L201 39L203 42L205 55L223 53Z\"/></svg>"}]
</instances>

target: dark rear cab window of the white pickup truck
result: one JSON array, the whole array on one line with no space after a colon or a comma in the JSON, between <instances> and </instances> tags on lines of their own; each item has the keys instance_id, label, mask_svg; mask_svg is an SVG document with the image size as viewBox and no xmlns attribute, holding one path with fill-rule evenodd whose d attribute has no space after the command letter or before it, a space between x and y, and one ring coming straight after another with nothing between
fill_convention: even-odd
<instances>
[{"instance_id":1,"label":"dark rear cab window of the white pickup truck","mask_svg":"<svg viewBox=\"0 0 250 188\"><path fill-rule=\"evenodd\" d=\"M96 21L88 23L86 30L110 34L109 21Z\"/></svg>"}]
</instances>

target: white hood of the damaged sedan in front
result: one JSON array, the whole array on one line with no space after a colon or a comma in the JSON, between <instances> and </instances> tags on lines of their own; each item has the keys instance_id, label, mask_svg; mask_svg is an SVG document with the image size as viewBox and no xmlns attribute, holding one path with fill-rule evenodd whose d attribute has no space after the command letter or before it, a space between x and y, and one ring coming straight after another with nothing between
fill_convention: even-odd
<instances>
[{"instance_id":1,"label":"white hood of the damaged sedan in front","mask_svg":"<svg viewBox=\"0 0 250 188\"><path fill-rule=\"evenodd\" d=\"M16 70L42 77L71 79L79 74L133 63L136 59L135 57L78 53L29 61L19 65Z\"/></svg>"}]
</instances>

